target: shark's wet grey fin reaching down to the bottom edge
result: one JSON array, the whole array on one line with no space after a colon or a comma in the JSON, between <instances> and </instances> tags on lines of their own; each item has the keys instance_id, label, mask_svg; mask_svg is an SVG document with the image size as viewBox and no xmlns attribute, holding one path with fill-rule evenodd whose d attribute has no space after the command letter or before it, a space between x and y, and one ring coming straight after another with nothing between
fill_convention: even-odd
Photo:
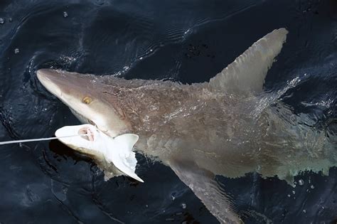
<instances>
[{"instance_id":1,"label":"shark's wet grey fin reaching down to the bottom edge","mask_svg":"<svg viewBox=\"0 0 337 224\"><path fill-rule=\"evenodd\" d=\"M230 199L215 181L213 173L201 169L193 161L172 159L169 165L221 223L242 223L233 211Z\"/></svg>"}]
</instances>

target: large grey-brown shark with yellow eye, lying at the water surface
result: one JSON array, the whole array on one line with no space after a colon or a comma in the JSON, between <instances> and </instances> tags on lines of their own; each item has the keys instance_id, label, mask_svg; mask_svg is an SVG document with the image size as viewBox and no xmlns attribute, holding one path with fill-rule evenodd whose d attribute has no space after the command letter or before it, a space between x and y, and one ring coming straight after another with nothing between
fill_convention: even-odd
<instances>
[{"instance_id":1,"label":"large grey-brown shark with yellow eye, lying at the water surface","mask_svg":"<svg viewBox=\"0 0 337 224\"><path fill-rule=\"evenodd\" d=\"M272 31L210 82L193 85L50 69L37 76L82 122L110 137L138 134L137 151L170 166L221 223L241 223L215 175L257 171L292 184L299 171L326 174L337 161L323 132L262 91L286 36Z\"/></svg>"}]
</instances>

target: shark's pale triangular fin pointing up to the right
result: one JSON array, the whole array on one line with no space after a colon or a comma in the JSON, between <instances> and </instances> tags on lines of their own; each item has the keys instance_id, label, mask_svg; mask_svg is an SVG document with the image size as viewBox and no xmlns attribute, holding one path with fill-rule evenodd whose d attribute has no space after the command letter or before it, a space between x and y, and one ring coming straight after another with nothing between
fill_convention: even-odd
<instances>
[{"instance_id":1,"label":"shark's pale triangular fin pointing up to the right","mask_svg":"<svg viewBox=\"0 0 337 224\"><path fill-rule=\"evenodd\" d=\"M255 42L221 73L210 79L210 90L241 95L261 92L267 71L281 51L287 33L285 28L279 28Z\"/></svg>"}]
</instances>

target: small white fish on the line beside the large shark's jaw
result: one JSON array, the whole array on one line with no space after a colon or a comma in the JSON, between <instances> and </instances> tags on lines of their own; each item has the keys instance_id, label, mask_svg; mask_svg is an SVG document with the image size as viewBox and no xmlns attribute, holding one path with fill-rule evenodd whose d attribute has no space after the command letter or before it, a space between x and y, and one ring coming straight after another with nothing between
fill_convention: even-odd
<instances>
[{"instance_id":1,"label":"small white fish on the line beside the large shark's jaw","mask_svg":"<svg viewBox=\"0 0 337 224\"><path fill-rule=\"evenodd\" d=\"M61 127L56 130L55 136L71 149L93 157L103 156L123 174L144 182L135 174L137 159L132 149L139 139L137 134L121 134L112 138L92 124L82 124ZM100 165L100 161L96 162Z\"/></svg>"}]
</instances>

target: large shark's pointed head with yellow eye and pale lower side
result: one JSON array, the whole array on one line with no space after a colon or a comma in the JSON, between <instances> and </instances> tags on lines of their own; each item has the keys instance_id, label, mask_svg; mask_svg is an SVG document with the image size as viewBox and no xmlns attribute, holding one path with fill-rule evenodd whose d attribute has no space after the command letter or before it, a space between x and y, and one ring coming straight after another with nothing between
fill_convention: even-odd
<instances>
[{"instance_id":1,"label":"large shark's pointed head with yellow eye and pale lower side","mask_svg":"<svg viewBox=\"0 0 337 224\"><path fill-rule=\"evenodd\" d=\"M117 97L109 95L107 99L102 95L94 76L52 69L40 69L36 73L42 85L64 102L81 122L95 125L110 137L131 131L122 107L117 106Z\"/></svg>"}]
</instances>

